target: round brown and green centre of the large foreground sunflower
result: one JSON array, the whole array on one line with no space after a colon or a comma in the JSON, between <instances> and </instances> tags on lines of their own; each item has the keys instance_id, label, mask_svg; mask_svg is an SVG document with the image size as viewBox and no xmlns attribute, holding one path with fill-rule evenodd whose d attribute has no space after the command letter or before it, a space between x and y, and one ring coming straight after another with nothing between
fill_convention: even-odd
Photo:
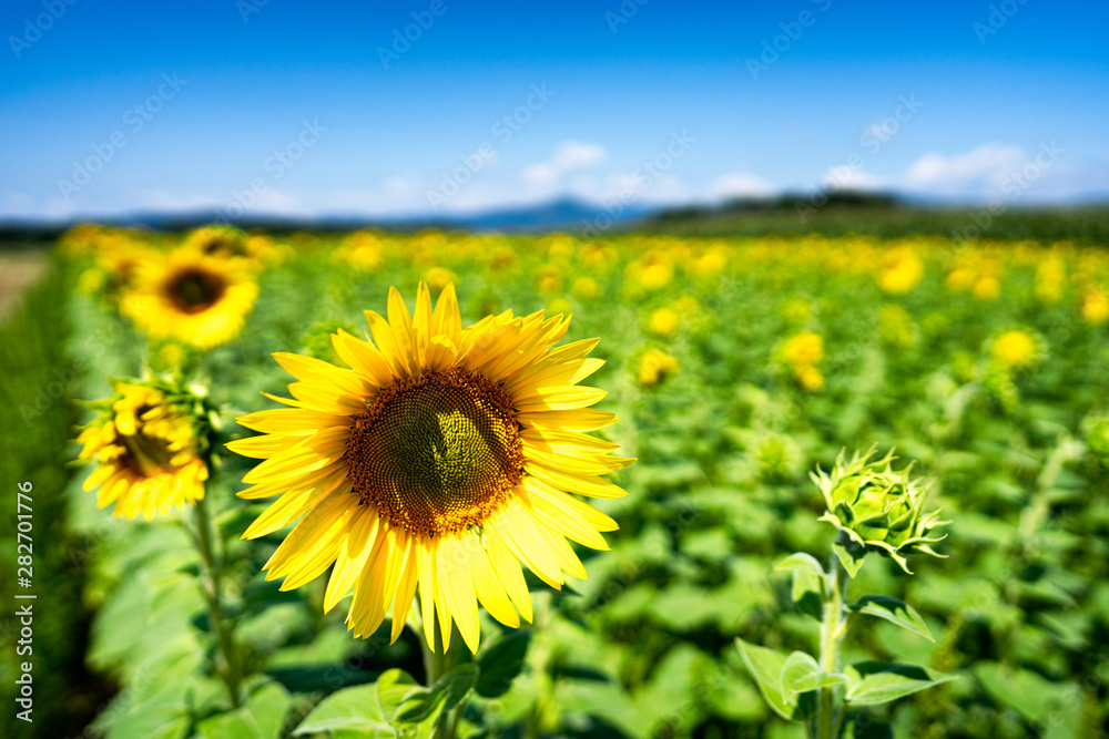
<instances>
[{"instance_id":1,"label":"round brown and green centre of the large foreground sunflower","mask_svg":"<svg viewBox=\"0 0 1109 739\"><path fill-rule=\"evenodd\" d=\"M386 388L355 421L355 492L394 526L438 536L480 525L523 475L505 391L476 372L427 372Z\"/></svg>"}]
</instances>

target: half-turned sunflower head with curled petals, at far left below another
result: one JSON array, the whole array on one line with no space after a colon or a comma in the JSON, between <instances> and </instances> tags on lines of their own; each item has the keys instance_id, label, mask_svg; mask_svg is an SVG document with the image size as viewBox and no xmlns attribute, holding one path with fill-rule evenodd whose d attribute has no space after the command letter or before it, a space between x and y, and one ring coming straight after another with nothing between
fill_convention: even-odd
<instances>
[{"instance_id":1,"label":"half-turned sunflower head with curled petals, at far left below another","mask_svg":"<svg viewBox=\"0 0 1109 739\"><path fill-rule=\"evenodd\" d=\"M204 497L208 470L195 412L149 383L119 382L115 391L93 403L102 412L78 437L79 459L99 463L84 482L100 487L96 505L115 503L113 515L150 521Z\"/></svg>"}]
</instances>

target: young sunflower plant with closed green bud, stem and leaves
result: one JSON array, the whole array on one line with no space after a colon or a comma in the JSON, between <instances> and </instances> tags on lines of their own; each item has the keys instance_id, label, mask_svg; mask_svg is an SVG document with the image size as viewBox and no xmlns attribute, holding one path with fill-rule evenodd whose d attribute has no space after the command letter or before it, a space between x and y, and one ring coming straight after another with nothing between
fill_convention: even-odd
<instances>
[{"instance_id":1,"label":"young sunflower plant with closed green bud, stem and leaves","mask_svg":"<svg viewBox=\"0 0 1109 739\"><path fill-rule=\"evenodd\" d=\"M791 573L793 601L801 612L821 623L818 653L784 655L736 639L744 665L774 712L804 722L818 739L841 736L854 708L889 702L956 677L917 665L840 664L841 645L859 616L932 639L924 619L907 603L885 595L863 595L854 602L847 597L867 554L887 556L907 574L909 554L943 556L930 544L943 538L933 530L947 522L938 520L938 511L924 513L926 487L909 476L912 465L894 471L893 452L875 462L873 455L873 449L849 460L841 453L831 474L820 468L812 474L827 503L820 520L838 531L828 567L803 552L776 565Z\"/></svg>"}]
</instances>

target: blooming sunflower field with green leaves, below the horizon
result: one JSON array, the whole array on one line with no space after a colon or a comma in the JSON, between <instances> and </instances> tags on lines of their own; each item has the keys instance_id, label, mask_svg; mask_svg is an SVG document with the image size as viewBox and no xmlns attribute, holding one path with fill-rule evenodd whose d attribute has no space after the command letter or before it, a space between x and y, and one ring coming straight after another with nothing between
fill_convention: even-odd
<instances>
[{"instance_id":1,"label":"blooming sunflower field with green leaves, below the horizon","mask_svg":"<svg viewBox=\"0 0 1109 739\"><path fill-rule=\"evenodd\" d=\"M0 584L37 595L0 736L1109 731L1102 247L90 225L49 258L0 326Z\"/></svg>"}]
</instances>

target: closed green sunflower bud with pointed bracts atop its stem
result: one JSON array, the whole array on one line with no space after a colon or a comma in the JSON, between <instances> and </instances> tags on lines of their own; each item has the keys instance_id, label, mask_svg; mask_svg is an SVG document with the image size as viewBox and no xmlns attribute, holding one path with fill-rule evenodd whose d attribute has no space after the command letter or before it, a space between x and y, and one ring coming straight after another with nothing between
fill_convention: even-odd
<instances>
[{"instance_id":1,"label":"closed green sunflower bud with pointed bracts atop its stem","mask_svg":"<svg viewBox=\"0 0 1109 739\"><path fill-rule=\"evenodd\" d=\"M946 534L935 536L933 530L948 522L938 520L938 510L924 513L926 486L909 476L912 464L895 472L893 452L875 462L873 454L873 449L855 452L847 460L841 452L831 475L820 468L811 473L827 504L821 521L840 530L836 554L853 577L867 551L889 556L912 574L909 554L943 556L930 544Z\"/></svg>"}]
</instances>

